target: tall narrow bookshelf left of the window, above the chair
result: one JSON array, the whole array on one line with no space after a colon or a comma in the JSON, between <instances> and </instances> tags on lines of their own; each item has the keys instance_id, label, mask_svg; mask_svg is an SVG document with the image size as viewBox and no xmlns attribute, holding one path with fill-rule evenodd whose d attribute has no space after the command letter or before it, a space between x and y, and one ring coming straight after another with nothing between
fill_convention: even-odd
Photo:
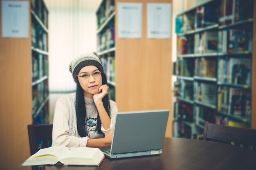
<instances>
[{"instance_id":1,"label":"tall narrow bookshelf left of the window, above the chair","mask_svg":"<svg viewBox=\"0 0 256 170\"><path fill-rule=\"evenodd\" d=\"M32 123L49 117L48 14L43 0L31 0Z\"/></svg>"}]
</instances>

